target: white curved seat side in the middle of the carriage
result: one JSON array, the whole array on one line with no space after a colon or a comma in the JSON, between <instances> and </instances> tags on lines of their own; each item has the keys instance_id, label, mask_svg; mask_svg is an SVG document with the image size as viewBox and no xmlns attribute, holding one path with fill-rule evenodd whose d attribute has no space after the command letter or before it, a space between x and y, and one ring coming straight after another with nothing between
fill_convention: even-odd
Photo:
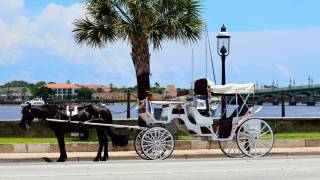
<instances>
[{"instance_id":1,"label":"white curved seat side in the middle of the carriage","mask_svg":"<svg viewBox=\"0 0 320 180\"><path fill-rule=\"evenodd\" d=\"M187 109L188 119L192 124L200 124L200 125L212 124L213 122L212 118L203 116L202 114L200 114L198 109L195 108L194 106L191 106L191 105L186 106L186 109Z\"/></svg>"}]
</instances>

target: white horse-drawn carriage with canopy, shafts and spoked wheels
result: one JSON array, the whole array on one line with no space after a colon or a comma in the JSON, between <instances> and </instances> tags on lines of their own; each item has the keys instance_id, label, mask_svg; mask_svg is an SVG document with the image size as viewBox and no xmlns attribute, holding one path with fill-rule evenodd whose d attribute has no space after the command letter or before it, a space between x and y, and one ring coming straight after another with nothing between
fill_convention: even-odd
<instances>
[{"instance_id":1,"label":"white horse-drawn carriage with canopy, shafts and spoked wheels","mask_svg":"<svg viewBox=\"0 0 320 180\"><path fill-rule=\"evenodd\" d=\"M162 102L151 101L147 97L141 101L139 108L143 109L143 112L139 119L143 126L102 124L90 120L82 124L140 130L134 147L141 158L148 160L170 157L176 139L172 127L202 140L217 141L222 152L228 157L262 157L271 151L274 135L265 121L253 117L261 110L261 107L254 109L247 103L253 93L254 84L214 85L208 79L199 79L195 81L191 99ZM222 99L221 113L218 116L217 109L212 106L212 97ZM222 104L226 104L227 108ZM233 112L227 113L230 108ZM70 123L68 120L47 120Z\"/></svg>"}]
</instances>

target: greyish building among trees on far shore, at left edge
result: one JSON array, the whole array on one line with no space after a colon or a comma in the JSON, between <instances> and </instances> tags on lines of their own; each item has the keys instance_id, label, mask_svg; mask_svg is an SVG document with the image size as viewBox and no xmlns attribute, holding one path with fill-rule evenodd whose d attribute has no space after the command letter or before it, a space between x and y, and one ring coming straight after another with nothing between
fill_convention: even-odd
<instances>
[{"instance_id":1,"label":"greyish building among trees on far shore, at left edge","mask_svg":"<svg viewBox=\"0 0 320 180\"><path fill-rule=\"evenodd\" d=\"M1 100L24 101L32 96L31 90L26 87L0 88Z\"/></svg>"}]
</instances>

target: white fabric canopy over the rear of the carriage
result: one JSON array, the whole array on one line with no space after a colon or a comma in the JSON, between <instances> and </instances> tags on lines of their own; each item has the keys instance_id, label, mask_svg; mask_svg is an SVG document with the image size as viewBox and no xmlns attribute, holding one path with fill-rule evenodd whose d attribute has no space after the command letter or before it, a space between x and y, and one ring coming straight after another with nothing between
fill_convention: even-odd
<instances>
[{"instance_id":1,"label":"white fabric canopy over the rear of the carriage","mask_svg":"<svg viewBox=\"0 0 320 180\"><path fill-rule=\"evenodd\" d=\"M212 93L216 94L250 94L254 93L254 84L226 84L210 87Z\"/></svg>"}]
</instances>

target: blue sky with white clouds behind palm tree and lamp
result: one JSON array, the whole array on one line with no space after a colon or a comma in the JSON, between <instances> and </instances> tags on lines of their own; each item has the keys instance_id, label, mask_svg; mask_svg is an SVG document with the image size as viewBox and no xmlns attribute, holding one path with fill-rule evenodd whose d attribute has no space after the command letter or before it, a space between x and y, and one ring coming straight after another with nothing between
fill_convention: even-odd
<instances>
[{"instance_id":1,"label":"blue sky with white clouds behind palm tree and lamp","mask_svg":"<svg viewBox=\"0 0 320 180\"><path fill-rule=\"evenodd\" d=\"M77 45L72 22L84 17L84 0L0 0L0 85L12 80L134 86L130 44L116 42L102 49ZM210 38L217 84L221 61L216 35L225 24L231 35L226 60L227 83L285 87L311 76L320 84L320 1L202 0L202 18ZM150 47L152 49L152 47ZM213 79L205 43L166 41L151 50L151 83L190 87L194 79ZM207 75L206 75L207 68Z\"/></svg>"}]
</instances>

